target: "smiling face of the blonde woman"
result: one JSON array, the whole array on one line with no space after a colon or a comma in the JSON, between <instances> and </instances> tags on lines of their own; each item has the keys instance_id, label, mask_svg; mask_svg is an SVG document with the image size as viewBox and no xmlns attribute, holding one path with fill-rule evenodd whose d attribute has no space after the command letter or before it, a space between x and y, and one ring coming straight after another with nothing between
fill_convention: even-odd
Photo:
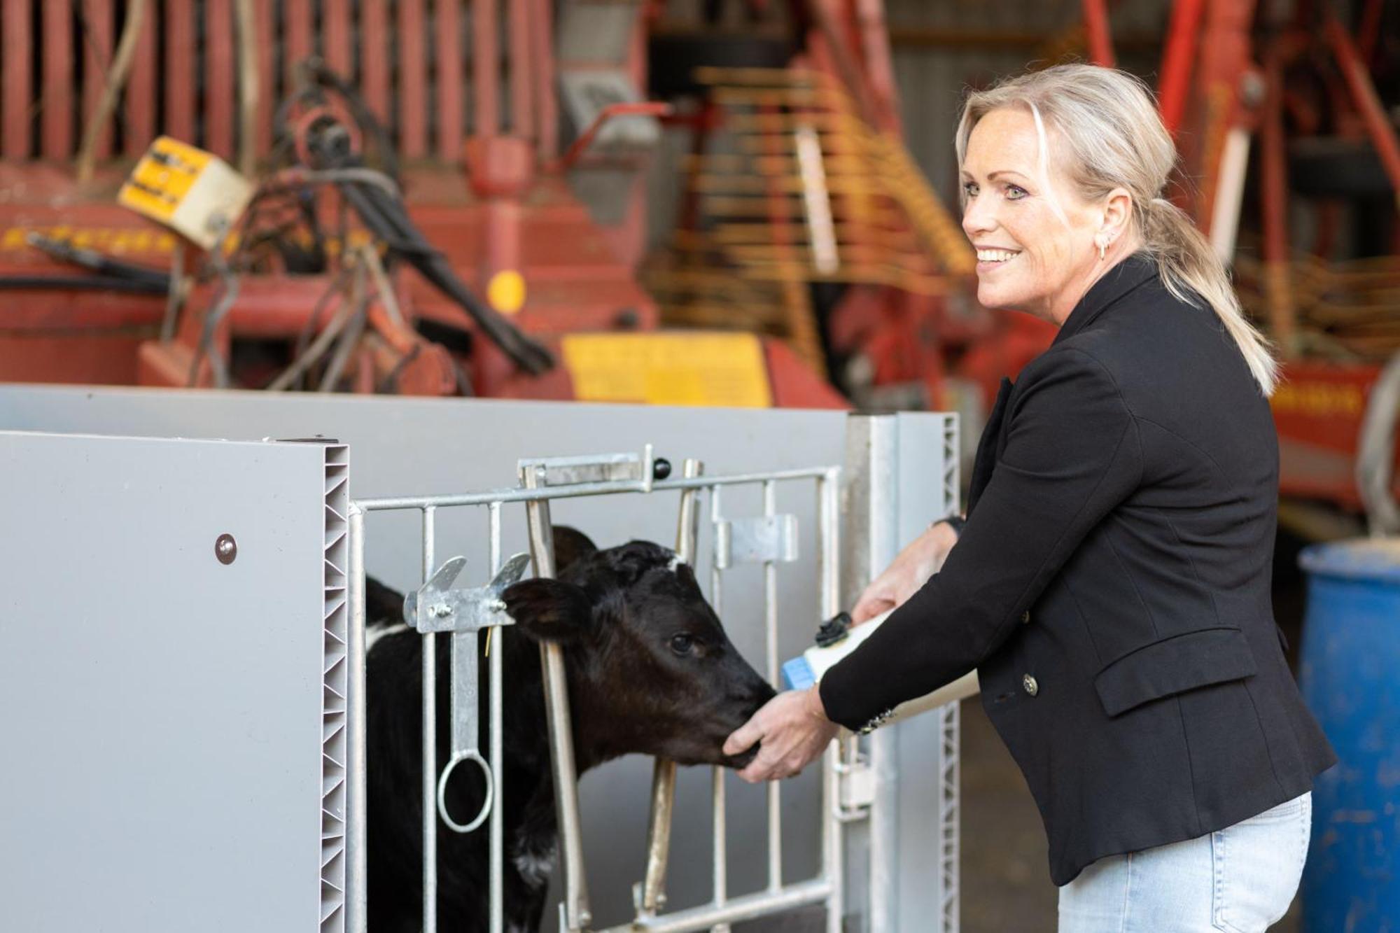
<instances>
[{"instance_id":1,"label":"smiling face of the blonde woman","mask_svg":"<svg viewBox=\"0 0 1400 933\"><path fill-rule=\"evenodd\" d=\"M1029 109L994 109L977 120L962 164L963 231L977 249L980 304L1063 324L1112 265L1095 244L1110 212L1079 196L1046 132L1051 153L1042 163Z\"/></svg>"}]
</instances>

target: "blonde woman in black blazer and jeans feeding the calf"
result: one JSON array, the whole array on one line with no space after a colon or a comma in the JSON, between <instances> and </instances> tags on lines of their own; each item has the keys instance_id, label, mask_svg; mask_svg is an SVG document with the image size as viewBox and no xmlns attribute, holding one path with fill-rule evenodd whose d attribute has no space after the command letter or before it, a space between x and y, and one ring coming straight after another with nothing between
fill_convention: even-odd
<instances>
[{"instance_id":1,"label":"blonde woman in black blazer and jeans feeding the calf","mask_svg":"<svg viewBox=\"0 0 1400 933\"><path fill-rule=\"evenodd\" d=\"M1336 761L1273 619L1275 363L1161 196L1176 153L1135 78L1060 66L972 94L958 156L977 300L1060 332L1002 382L960 532L935 524L855 616L900 608L725 751L762 741L742 775L788 776L836 724L976 668L1061 932L1263 930Z\"/></svg>"}]
</instances>

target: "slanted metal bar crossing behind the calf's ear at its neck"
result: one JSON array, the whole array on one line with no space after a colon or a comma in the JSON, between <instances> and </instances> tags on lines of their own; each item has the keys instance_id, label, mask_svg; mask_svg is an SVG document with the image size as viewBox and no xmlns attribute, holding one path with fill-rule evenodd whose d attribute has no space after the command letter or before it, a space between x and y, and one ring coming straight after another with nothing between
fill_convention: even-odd
<instances>
[{"instance_id":1,"label":"slanted metal bar crossing behind the calf's ear at its neck","mask_svg":"<svg viewBox=\"0 0 1400 933\"><path fill-rule=\"evenodd\" d=\"M521 485L539 489L539 466L521 468ZM549 521L547 497L526 503L531 556L535 576L554 576L554 537ZM568 714L568 679L564 651L554 642L540 644L545 674L545 712L549 719L550 761L554 778L554 813L561 838L564 869L564 920L568 930L581 930L592 922L588 911L588 884L584 876L582 825L578 817L578 775L574 770L573 719Z\"/></svg>"}]
</instances>

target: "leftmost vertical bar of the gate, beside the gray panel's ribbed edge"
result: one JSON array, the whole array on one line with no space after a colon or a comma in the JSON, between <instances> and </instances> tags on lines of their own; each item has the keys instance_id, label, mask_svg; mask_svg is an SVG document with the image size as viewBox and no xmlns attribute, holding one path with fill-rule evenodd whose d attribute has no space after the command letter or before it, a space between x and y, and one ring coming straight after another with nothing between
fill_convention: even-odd
<instances>
[{"instance_id":1,"label":"leftmost vertical bar of the gate, beside the gray panel's ribbed edge","mask_svg":"<svg viewBox=\"0 0 1400 933\"><path fill-rule=\"evenodd\" d=\"M365 848L365 689L364 689L364 510L350 506L349 593L350 628L346 654L350 663L349 754L346 761L346 933L365 933L368 849Z\"/></svg>"}]
</instances>

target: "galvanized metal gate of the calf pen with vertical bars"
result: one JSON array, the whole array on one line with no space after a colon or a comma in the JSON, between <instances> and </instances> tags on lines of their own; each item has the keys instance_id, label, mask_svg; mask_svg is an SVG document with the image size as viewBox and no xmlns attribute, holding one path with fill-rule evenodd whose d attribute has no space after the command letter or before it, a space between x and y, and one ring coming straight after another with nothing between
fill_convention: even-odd
<instances>
[{"instance_id":1,"label":"galvanized metal gate of the calf pen with vertical bars","mask_svg":"<svg viewBox=\"0 0 1400 933\"><path fill-rule=\"evenodd\" d=\"M847 518L855 525L861 541L853 542L851 553L865 563L885 560L892 553L889 542L893 525L888 514L876 518L882 506L875 502L879 495L888 499L892 493L875 493L879 482L888 479L895 465L888 462L895 457L895 447L878 429L879 419L853 419L853 424L869 422L869 429L854 427L851 431L851 457L862 483L864 493L848 490ZM956 503L956 422L949 417L944 440L946 511ZM888 431L886 431L888 434ZM882 437L885 440L882 441ZM724 615L724 573L742 563L756 563L763 569L764 583L764 671L777 685L778 639L777 639L777 573L778 565L794 563L799 556L799 530L797 516L777 511L777 488L780 485L808 485L813 488L818 500L816 574L813 586L820 591L820 612L823 618L834 615L840 608L840 511L841 511L841 466L822 465L808 469L787 469L776 472L736 474L727 476L704 476L699 461L687 459L679 478L664 476L658 471L652 448L648 444L637 454L610 454L602 457L568 457L552 459L519 461L519 485L512 489L493 489L475 493L448 496L410 496L392 499L361 499L350 506L350 654L356 663L351 670L351 689L364 696L364 518L371 511L417 511L421 517L421 579L423 588L409 597L410 612L416 618L406 621L417 628L423 637L423 857L424 890L423 912L424 932L437 930L437 820L440 818L440 794L448 772L459 762L472 761L487 779L487 803L470 828L489 821L490 834L490 890L489 922L493 933L503 930L503 860L504 825L501 799L510 793L504 786L501 766L501 720L504 696L501 692L501 651L489 654L487 677L490 682L490 748L482 755L477 748L477 639L480 629L496 629L508 625L510 619L500 612L496 597L510 581L524 570L525 555L517 555L505 562L503 574L501 510L511 503L522 503L528 523L531 558L536 576L554 574L554 553L550 534L550 503L557 499L582 496L655 495L678 492L680 497L676 552L680 559L694 565L700 516L700 496L708 495L711 524L711 579L710 601L718 615ZM724 509L725 490L741 486L762 489L763 509L757 516L731 516ZM874 497L872 497L874 496ZM893 495L892 500L897 500ZM486 535L489 539L489 567L477 573L491 583L473 590L449 593L452 579L462 569L463 560L454 558L442 565L435 555L437 518L440 510L484 509ZM885 510L888 513L888 510ZM882 565L879 565L882 566ZM847 574L851 586L860 586L864 579L857 569ZM452 632L452 754L448 768L438 773L435 748L435 635ZM570 933L592 927L585 866L582 856L582 832L578 811L577 775L570 734L568 696L564 679L563 653L557 644L545 644L542 667L545 674L546 709L549 717L549 738L553 761L556 813L560 828L560 867L564 899L560 905L560 930ZM459 714L468 710L466 714ZM364 769L364 703L357 703L353 716L353 749L350 766L350 808L364 813L365 769ZM937 814L939 843L939 890L942 891L938 927L956 930L956 705L949 705L934 713L942 733L941 755L941 807ZM778 783L767 785L767 884L755 894L729 897L728 866L725 859L725 785L724 769L714 768L711 778L711 820L714 848L711 857L711 899L708 904L675 912L664 912L665 876L671 841L671 817L675 800L673 762L657 761L654 768L651 810L647 839L645 876L634 885L633 901L636 913L631 922L610 927L606 933L624 930L665 930L682 933L689 930L727 930L729 923L760 916L784 913L808 905L823 905L827 933L843 929L843 915L847 898L844 850L850 824L865 824L874 815L875 821L864 828L864 842L868 846L868 870L861 894L868 898L869 929L885 933L897 929L895 908L885 904L892 897L893 864L897 852L892 845L893 803L879 800L882 787L888 786L892 755L889 737L857 738L847 735L834 741L822 761L822 806L820 806L820 869L815 877L783 883L783 841L781 841L781 797ZM451 824L445 811L441 818ZM881 825L883 821L885 825ZM350 829L349 839L349 912L347 929L361 933L365 927L365 846L364 820ZM463 827L454 825L462 831ZM441 918L452 923L454 918Z\"/></svg>"}]
</instances>

